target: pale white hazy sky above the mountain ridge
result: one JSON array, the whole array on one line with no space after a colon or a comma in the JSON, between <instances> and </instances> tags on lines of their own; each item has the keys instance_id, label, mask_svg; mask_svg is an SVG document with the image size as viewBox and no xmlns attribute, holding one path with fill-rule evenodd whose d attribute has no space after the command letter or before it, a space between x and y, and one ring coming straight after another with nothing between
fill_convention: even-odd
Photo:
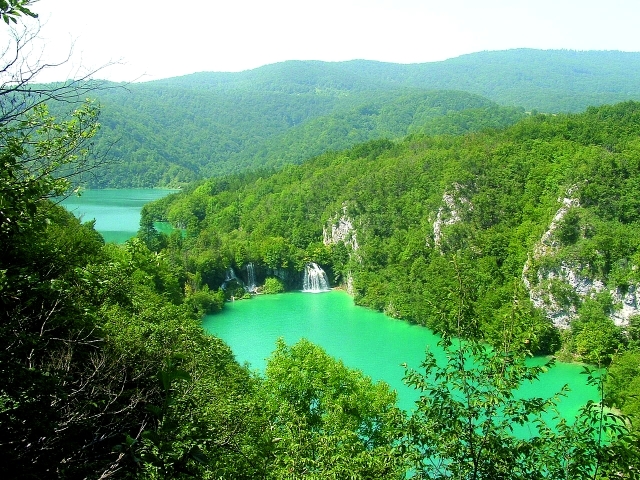
<instances>
[{"instance_id":1,"label":"pale white hazy sky above the mountain ridge","mask_svg":"<svg viewBox=\"0 0 640 480\"><path fill-rule=\"evenodd\" d=\"M640 51L638 0L39 0L43 58L151 80L284 60L444 60L530 47ZM55 78L54 78L55 77Z\"/></svg>"}]
</instances>

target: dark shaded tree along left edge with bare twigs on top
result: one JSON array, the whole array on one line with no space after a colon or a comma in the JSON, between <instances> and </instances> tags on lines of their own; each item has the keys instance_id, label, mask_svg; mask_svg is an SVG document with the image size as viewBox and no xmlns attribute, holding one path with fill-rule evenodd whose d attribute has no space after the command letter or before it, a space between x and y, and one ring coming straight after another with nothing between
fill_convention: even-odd
<instances>
[{"instance_id":1,"label":"dark shaded tree along left edge with bare twigs on top","mask_svg":"<svg viewBox=\"0 0 640 480\"><path fill-rule=\"evenodd\" d=\"M35 16L31 3L0 2L0 15L15 24ZM0 451L12 477L83 475L113 461L111 434L135 404L121 358L100 348L87 294L98 288L89 271L103 240L49 200L90 168L97 108L53 118L45 100L72 89L30 90L26 80L46 65L20 71L31 37L14 38L0 68Z\"/></svg>"}]
</instances>

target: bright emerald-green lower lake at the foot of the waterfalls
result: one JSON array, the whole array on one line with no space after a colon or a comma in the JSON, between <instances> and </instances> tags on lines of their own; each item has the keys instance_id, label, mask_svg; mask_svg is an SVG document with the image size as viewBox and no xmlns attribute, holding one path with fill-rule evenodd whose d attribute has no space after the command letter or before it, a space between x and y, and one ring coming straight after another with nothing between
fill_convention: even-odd
<instances>
[{"instance_id":1,"label":"bright emerald-green lower lake at the foot of the waterfalls","mask_svg":"<svg viewBox=\"0 0 640 480\"><path fill-rule=\"evenodd\" d=\"M306 338L345 365L388 383L398 393L399 406L407 411L418 394L402 382L402 364L418 369L427 346L444 358L437 346L439 338L429 329L359 307L339 290L260 295L229 302L221 313L207 316L203 326L227 342L239 362L248 362L258 371L264 370L278 338L287 344ZM545 361L532 359L538 364ZM580 365L556 363L520 393L551 397L568 384L571 391L561 399L559 410L565 418L575 417L582 405L597 398L597 390L586 385L581 371Z\"/></svg>"}]
</instances>

